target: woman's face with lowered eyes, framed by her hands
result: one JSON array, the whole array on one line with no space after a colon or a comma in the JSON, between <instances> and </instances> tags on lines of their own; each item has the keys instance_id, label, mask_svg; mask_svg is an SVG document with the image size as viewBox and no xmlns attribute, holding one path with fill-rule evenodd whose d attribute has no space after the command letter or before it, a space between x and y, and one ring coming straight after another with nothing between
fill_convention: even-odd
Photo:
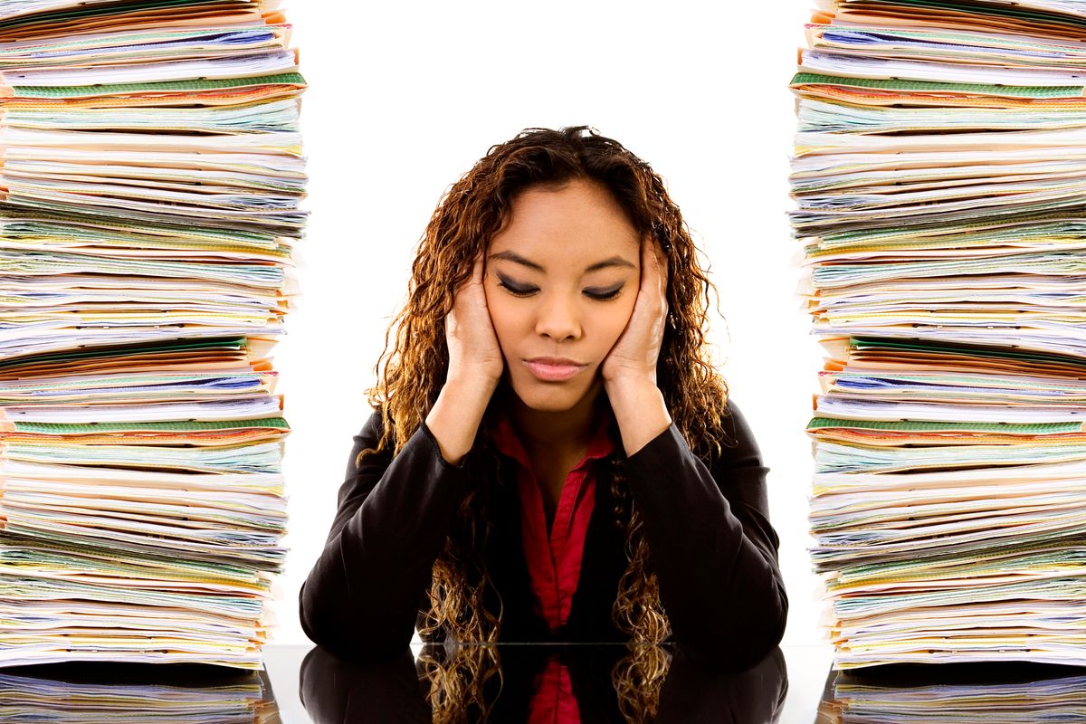
<instances>
[{"instance_id":1,"label":"woman's face with lowered eyes, framed by her hands","mask_svg":"<svg viewBox=\"0 0 1086 724\"><path fill-rule=\"evenodd\" d=\"M598 393L599 366L637 297L640 243L597 183L532 187L514 199L491 240L483 287L505 379L529 408L569 410ZM560 359L572 367L546 364Z\"/></svg>"}]
</instances>

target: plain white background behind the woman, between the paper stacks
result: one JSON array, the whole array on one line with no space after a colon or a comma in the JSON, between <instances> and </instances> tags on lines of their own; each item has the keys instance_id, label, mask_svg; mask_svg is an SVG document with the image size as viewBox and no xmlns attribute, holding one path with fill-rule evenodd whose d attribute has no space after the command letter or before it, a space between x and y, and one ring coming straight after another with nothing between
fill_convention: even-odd
<instances>
[{"instance_id":1,"label":"plain white background behind the woman, between the paper stacks","mask_svg":"<svg viewBox=\"0 0 1086 724\"><path fill-rule=\"evenodd\" d=\"M293 430L277 643L306 642L298 592L324 546L351 439L369 414L363 391L439 198L522 128L581 124L652 164L709 259L723 315L714 310L711 340L770 468L791 598L785 643L821 640L804 432L821 348L797 294L801 255L786 217L787 85L810 4L784 0L758 14L704 0L285 7L310 86L312 216L298 247L301 297L275 357Z\"/></svg>"}]
</instances>

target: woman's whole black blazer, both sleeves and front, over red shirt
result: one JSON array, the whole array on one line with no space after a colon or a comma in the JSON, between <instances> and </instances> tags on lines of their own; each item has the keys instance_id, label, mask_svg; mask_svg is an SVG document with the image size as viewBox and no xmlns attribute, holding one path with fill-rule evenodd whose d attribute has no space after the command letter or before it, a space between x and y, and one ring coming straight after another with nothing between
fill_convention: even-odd
<instances>
[{"instance_id":1,"label":"woman's whole black blazer, both sleeves and front, over red shirt","mask_svg":"<svg viewBox=\"0 0 1086 724\"><path fill-rule=\"evenodd\" d=\"M731 401L728 408L724 424L737 444L719 458L695 456L672 423L628 458L626 470L673 640L705 665L740 669L781 640L788 604L769 522L768 468L738 408ZM377 447L380 424L374 412L354 437L339 510L299 594L306 635L352 658L388 658L408 645L429 609L431 568L457 508L485 475L478 444L452 466L425 422L394 459L386 450L356 469L357 454ZM503 458L483 551L504 604L500 640L626 640L610 618L627 559L623 533L614 525L608 467L596 469L595 507L569 619L551 633L533 611L515 467ZM487 604L497 611L496 597Z\"/></svg>"}]
</instances>

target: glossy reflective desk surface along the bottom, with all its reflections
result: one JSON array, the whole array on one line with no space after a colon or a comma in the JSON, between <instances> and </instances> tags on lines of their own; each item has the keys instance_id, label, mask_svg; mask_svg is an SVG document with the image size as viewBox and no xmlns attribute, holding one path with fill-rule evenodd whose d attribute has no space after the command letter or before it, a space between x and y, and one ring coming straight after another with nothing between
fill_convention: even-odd
<instances>
[{"instance_id":1,"label":"glossy reflective desk surface along the bottom, with all its reflections","mask_svg":"<svg viewBox=\"0 0 1086 724\"><path fill-rule=\"evenodd\" d=\"M341 661L312 646L265 648L265 670L49 664L0 669L0 722L54 724L326 724L430 722L427 695L476 700L493 722L780 722L1025 724L1086 722L1086 669L1040 664L895 665L834 672L823 646L784 646L742 672L707 670L659 647L501 646L457 659L437 647L382 664ZM653 650L648 650L653 649ZM633 656L631 656L633 655ZM471 676L454 664L471 664ZM666 671L660 664L667 664ZM457 674L456 672L462 673ZM421 672L421 675L420 675ZM501 696L489 700L488 691ZM493 698L493 697L490 697ZM471 709L470 707L476 707ZM570 708L572 707L572 709ZM447 707L446 709L455 709ZM478 706L468 707L475 721ZM530 719L531 716L538 719ZM447 721L456 721L451 716Z\"/></svg>"}]
</instances>

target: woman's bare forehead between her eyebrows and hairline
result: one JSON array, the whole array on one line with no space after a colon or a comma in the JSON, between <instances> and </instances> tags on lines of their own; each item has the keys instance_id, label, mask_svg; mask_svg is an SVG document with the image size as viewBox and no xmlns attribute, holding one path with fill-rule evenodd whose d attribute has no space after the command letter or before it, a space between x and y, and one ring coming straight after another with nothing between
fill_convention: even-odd
<instances>
[{"instance_id":1,"label":"woman's bare forehead between her eyebrows and hairline","mask_svg":"<svg viewBox=\"0 0 1086 724\"><path fill-rule=\"evenodd\" d=\"M561 255L570 262L620 254L636 262L640 241L610 191L578 179L561 187L530 187L517 194L505 227L491 240L490 252L512 250L530 258Z\"/></svg>"}]
</instances>

